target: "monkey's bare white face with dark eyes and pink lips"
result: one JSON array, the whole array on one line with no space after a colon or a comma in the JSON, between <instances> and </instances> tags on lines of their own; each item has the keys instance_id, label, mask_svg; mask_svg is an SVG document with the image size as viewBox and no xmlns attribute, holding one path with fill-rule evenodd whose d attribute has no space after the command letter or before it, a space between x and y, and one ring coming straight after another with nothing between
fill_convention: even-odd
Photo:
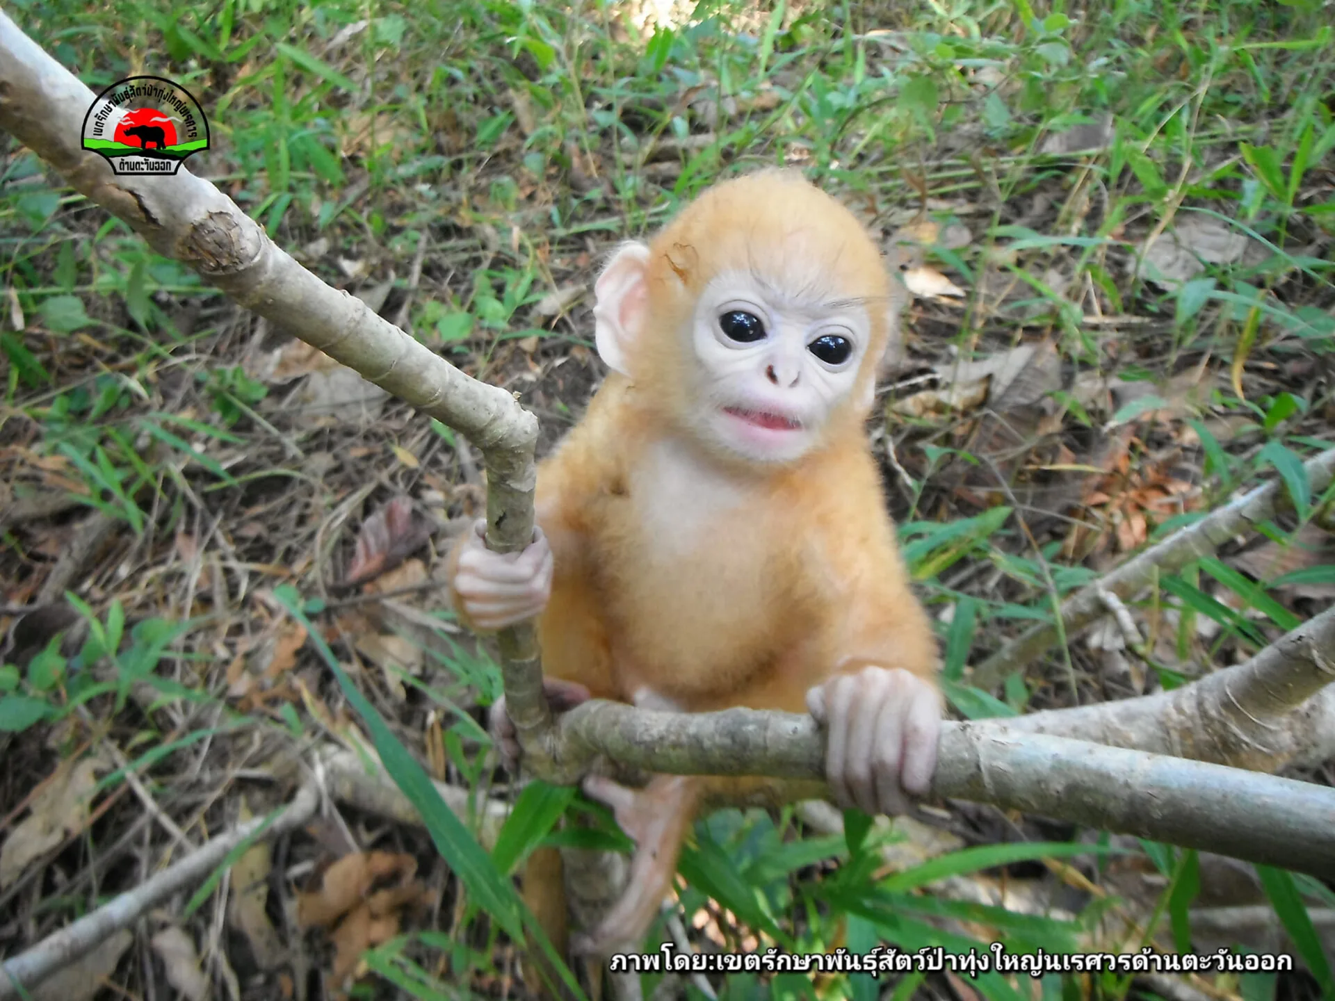
<instances>
[{"instance_id":1,"label":"monkey's bare white face with dark eyes and pink lips","mask_svg":"<svg viewBox=\"0 0 1335 1001\"><path fill-rule=\"evenodd\" d=\"M773 288L748 271L716 276L692 330L700 430L749 459L797 459L853 391L869 339L862 303Z\"/></svg>"}]
</instances>

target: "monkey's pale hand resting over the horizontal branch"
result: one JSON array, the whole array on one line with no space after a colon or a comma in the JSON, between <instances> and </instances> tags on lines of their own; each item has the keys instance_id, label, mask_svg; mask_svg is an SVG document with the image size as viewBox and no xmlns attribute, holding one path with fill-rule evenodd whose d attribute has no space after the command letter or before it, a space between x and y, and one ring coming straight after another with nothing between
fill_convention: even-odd
<instances>
[{"instance_id":1,"label":"monkey's pale hand resting over the horizontal branch","mask_svg":"<svg viewBox=\"0 0 1335 1001\"><path fill-rule=\"evenodd\" d=\"M825 777L841 807L908 813L909 797L932 787L941 697L930 682L864 667L808 691L806 707L825 727Z\"/></svg>"}]
</instances>

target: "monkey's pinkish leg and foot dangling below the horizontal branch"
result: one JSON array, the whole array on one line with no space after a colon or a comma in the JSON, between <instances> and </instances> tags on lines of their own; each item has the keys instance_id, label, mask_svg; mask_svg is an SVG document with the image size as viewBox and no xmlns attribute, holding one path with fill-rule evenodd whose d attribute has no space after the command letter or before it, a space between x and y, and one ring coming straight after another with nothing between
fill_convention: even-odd
<instances>
[{"instance_id":1,"label":"monkey's pinkish leg and foot dangling below the horizontal branch","mask_svg":"<svg viewBox=\"0 0 1335 1001\"><path fill-rule=\"evenodd\" d=\"M654 775L643 789L627 789L602 775L589 775L583 790L607 803L617 823L635 842L626 890L593 932L578 936L578 956L607 957L643 945L663 897L672 890L677 856L694 815L698 779Z\"/></svg>"}]
</instances>

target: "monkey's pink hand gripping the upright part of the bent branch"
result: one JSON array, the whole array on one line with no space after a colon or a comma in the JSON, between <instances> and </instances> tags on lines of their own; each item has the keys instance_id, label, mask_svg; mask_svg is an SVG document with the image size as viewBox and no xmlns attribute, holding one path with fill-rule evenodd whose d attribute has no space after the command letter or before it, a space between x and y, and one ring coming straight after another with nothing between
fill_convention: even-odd
<instances>
[{"instance_id":1,"label":"monkey's pink hand gripping the upright part of the bent branch","mask_svg":"<svg viewBox=\"0 0 1335 1001\"><path fill-rule=\"evenodd\" d=\"M542 529L522 553L495 553L483 541L486 519L478 519L463 539L454 590L463 614L481 630L493 631L537 618L551 597L551 547Z\"/></svg>"}]
</instances>

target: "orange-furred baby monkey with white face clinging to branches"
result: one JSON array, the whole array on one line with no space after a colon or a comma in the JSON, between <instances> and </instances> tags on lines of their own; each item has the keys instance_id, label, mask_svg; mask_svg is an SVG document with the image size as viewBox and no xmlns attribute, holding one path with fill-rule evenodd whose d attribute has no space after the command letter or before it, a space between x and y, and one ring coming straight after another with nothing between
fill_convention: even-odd
<instances>
[{"instance_id":1,"label":"orange-furred baby monkey with white face clinging to branches","mask_svg":"<svg viewBox=\"0 0 1335 1001\"><path fill-rule=\"evenodd\" d=\"M533 545L485 523L451 554L479 630L541 617L554 707L809 710L834 798L902 813L936 769L936 641L885 511L864 422L896 296L844 206L786 171L718 184L598 278L611 370L538 470ZM502 751L518 745L503 703ZM754 779L589 778L637 842L582 950L638 948L697 805Z\"/></svg>"}]
</instances>

